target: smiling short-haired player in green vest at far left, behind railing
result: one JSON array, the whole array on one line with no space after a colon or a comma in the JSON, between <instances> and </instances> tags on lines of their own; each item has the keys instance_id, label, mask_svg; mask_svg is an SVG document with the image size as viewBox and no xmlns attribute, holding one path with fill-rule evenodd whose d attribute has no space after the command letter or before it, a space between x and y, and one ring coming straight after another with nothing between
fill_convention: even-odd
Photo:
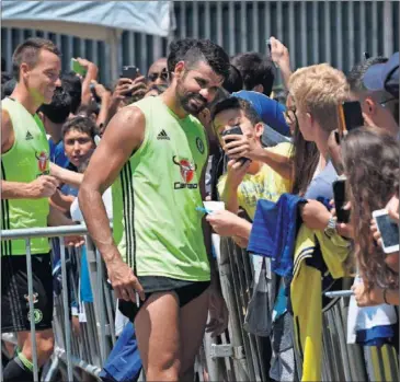
<instances>
[{"instance_id":1,"label":"smiling short-haired player in green vest at far left, behind railing","mask_svg":"<svg viewBox=\"0 0 400 382\"><path fill-rule=\"evenodd\" d=\"M49 175L49 147L36 111L50 103L60 85L61 62L57 47L43 38L30 38L14 51L18 81L1 102L1 229L71 224L49 197L58 181ZM34 323L41 368L52 356L54 336L53 277L48 239L31 241ZM1 241L1 331L18 332L18 355L3 370L4 382L33 381L24 240Z\"/></svg>"}]
</instances>

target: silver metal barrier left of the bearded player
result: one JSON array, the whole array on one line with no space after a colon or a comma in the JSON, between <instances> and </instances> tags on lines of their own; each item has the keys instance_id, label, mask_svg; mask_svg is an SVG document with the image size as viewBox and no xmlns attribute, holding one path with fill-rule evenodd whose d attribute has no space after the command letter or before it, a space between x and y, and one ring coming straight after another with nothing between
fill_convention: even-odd
<instances>
[{"instance_id":1,"label":"silver metal barrier left of the bearded player","mask_svg":"<svg viewBox=\"0 0 400 382\"><path fill-rule=\"evenodd\" d=\"M44 381L54 381L57 372L61 373L64 381L82 381L82 372L92 377L99 377L101 369L113 348L115 338L114 317L115 300L111 288L104 278L103 262L87 235L85 225L69 225L41 229L23 229L1 231L2 240L26 240L26 268L28 281L28 294L33 296L32 281L32 238L58 238L59 244L53 241L52 256L57 252L61 262L61 294L54 296L54 336L55 351L47 372L43 375ZM90 276L90 285L93 302L83 302L87 316L85 323L79 323L79 334L71 331L71 296L78 301L80 280L80 248L68 248L64 238L68 235L85 235L85 251ZM71 266L75 264L75 266ZM34 381L38 381L37 349L35 339L34 314L32 314L33 299L30 298L31 337L33 344L33 372ZM0 370L2 380L2 368Z\"/></svg>"}]
</instances>

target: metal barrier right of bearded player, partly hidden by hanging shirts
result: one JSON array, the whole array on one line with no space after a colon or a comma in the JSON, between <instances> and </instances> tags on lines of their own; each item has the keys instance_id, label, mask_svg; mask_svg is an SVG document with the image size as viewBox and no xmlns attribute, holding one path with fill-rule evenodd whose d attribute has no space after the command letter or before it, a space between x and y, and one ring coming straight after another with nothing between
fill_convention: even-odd
<instances>
[{"instance_id":1,"label":"metal barrier right of bearded player, partly hidden by hanging shirts","mask_svg":"<svg viewBox=\"0 0 400 382\"><path fill-rule=\"evenodd\" d=\"M244 316L253 292L254 269L249 253L230 239L214 240L229 327L218 340L205 336L203 367L208 381L270 381L270 338L250 334ZM348 286L347 286L348 287ZM322 314L322 381L398 381L399 360L393 346L346 343L351 290L325 293L332 300ZM204 374L204 371L203 371ZM301 379L301 370L297 370ZM201 381L203 381L202 379Z\"/></svg>"}]
</instances>

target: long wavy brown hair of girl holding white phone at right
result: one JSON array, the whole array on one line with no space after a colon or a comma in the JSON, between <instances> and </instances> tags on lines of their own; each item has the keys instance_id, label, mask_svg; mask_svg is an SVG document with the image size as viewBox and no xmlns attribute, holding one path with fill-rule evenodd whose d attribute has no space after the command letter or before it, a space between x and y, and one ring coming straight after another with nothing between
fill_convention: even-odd
<instances>
[{"instance_id":1,"label":"long wavy brown hair of girl holding white phone at right","mask_svg":"<svg viewBox=\"0 0 400 382\"><path fill-rule=\"evenodd\" d=\"M377 128L358 128L342 141L344 172L352 204L355 258L368 289L398 288L399 276L385 263L384 251L375 244L369 224L374 210L382 209L399 185L399 144Z\"/></svg>"}]
</instances>

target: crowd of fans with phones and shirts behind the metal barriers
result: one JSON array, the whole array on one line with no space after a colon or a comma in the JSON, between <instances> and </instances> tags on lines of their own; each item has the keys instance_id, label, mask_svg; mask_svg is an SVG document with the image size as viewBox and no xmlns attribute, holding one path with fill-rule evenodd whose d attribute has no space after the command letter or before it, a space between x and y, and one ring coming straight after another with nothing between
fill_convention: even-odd
<instances>
[{"instance_id":1,"label":"crowd of fans with phones and shirts behind the metal barriers","mask_svg":"<svg viewBox=\"0 0 400 382\"><path fill-rule=\"evenodd\" d=\"M98 66L84 58L77 61L85 74L61 74L61 86L38 115L50 147L50 174L61 181L52 202L62 213L70 218L72 206L73 218L81 175L68 184L62 180L70 178L70 172L84 173L121 108L164 92L179 58L196 44L190 38L173 42L168 59L110 88L99 82ZM317 283L322 279L317 300L333 279L347 277L357 280L352 289L359 306L399 304L399 252L385 253L373 219L373 211L388 209L399 222L399 55L356 62L347 76L328 63L292 72L288 49L274 37L270 44L266 57L232 57L215 100L196 117L209 140L207 198L226 207L206 219L220 236L247 248L254 267L274 275L268 280L275 294L266 331L274 342L281 320L294 316L299 337L312 336L304 309L313 304L316 277ZM284 90L273 91L276 70ZM2 99L14 85L12 74L2 72ZM364 126L341 135L339 107L347 101L359 102ZM226 134L237 126L242 134ZM348 222L336 221L333 184L340 175L346 178ZM315 306L322 309L324 302ZM258 308L251 309L256 314ZM279 357L288 366L277 368ZM294 380L294 363L293 355L274 352L271 378ZM313 372L304 369L310 380Z\"/></svg>"}]
</instances>

